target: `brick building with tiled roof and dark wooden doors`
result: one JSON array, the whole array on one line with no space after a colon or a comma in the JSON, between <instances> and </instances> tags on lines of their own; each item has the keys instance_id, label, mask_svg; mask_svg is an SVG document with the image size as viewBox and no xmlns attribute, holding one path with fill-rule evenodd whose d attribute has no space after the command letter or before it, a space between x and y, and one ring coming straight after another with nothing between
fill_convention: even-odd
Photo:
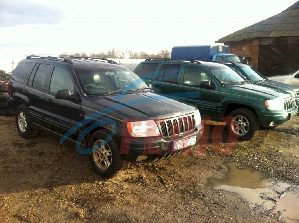
<instances>
[{"instance_id":1,"label":"brick building with tiled roof and dark wooden doors","mask_svg":"<svg viewBox=\"0 0 299 223\"><path fill-rule=\"evenodd\" d=\"M268 19L216 41L229 53L245 55L266 76L299 70L299 1Z\"/></svg>"}]
</instances>

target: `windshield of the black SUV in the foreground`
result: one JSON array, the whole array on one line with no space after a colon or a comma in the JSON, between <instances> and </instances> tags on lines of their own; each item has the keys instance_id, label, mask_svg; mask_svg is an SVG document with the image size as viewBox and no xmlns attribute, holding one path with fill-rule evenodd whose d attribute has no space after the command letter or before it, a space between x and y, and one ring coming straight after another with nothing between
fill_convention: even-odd
<instances>
[{"instance_id":1,"label":"windshield of the black SUV in the foreground","mask_svg":"<svg viewBox=\"0 0 299 223\"><path fill-rule=\"evenodd\" d=\"M106 94L120 89L132 91L148 87L131 70L121 67L75 69L75 73L86 95Z\"/></svg>"}]
</instances>

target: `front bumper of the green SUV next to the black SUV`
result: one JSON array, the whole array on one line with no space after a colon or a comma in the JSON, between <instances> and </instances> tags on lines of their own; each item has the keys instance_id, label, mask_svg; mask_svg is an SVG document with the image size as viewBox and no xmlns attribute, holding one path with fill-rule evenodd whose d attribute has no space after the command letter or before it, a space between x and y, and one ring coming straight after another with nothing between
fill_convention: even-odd
<instances>
[{"instance_id":1,"label":"front bumper of the green SUV next to the black SUV","mask_svg":"<svg viewBox=\"0 0 299 223\"><path fill-rule=\"evenodd\" d=\"M262 127L276 126L294 118L294 113L298 113L298 107L295 106L290 110L259 110L257 115ZM296 117L296 116L295 116ZM274 122L270 125L271 122Z\"/></svg>"}]
</instances>

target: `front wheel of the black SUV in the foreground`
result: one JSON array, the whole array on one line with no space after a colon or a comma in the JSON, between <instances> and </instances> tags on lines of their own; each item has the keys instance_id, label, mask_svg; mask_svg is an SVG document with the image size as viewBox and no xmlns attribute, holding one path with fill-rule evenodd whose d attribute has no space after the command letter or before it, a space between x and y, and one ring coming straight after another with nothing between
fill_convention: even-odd
<instances>
[{"instance_id":1,"label":"front wheel of the black SUV in the foreground","mask_svg":"<svg viewBox=\"0 0 299 223\"><path fill-rule=\"evenodd\" d=\"M104 141L107 137L109 137L109 135L110 132L107 130L97 130L91 135L88 142L88 148L93 148L96 144L101 142L104 143L103 151L96 152L96 150L94 150L89 155L89 161L91 163L92 168L95 170L97 174L104 178L112 178L113 176L116 176L120 170L126 167L126 161L123 161L121 159L120 149L115 143L115 141L113 139L110 139L108 143ZM100 149L101 148L99 148L99 150ZM108 167L107 164L109 163L104 164L103 162L105 156L107 160L110 161L110 165L108 165ZM99 159L99 157L102 157L102 160L100 160L100 162L96 162L95 159Z\"/></svg>"}]
</instances>

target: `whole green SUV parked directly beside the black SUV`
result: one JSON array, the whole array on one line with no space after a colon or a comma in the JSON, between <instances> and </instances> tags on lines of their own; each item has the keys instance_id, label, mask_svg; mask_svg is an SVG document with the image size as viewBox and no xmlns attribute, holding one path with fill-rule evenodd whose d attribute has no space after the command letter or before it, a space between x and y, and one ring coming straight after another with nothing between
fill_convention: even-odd
<instances>
[{"instance_id":1,"label":"whole green SUV parked directly beside the black SUV","mask_svg":"<svg viewBox=\"0 0 299 223\"><path fill-rule=\"evenodd\" d=\"M251 139L260 126L275 127L298 113L292 94L246 81L216 61L146 59L134 73L156 92L196 106L202 117L227 122L240 140Z\"/></svg>"}]
</instances>

